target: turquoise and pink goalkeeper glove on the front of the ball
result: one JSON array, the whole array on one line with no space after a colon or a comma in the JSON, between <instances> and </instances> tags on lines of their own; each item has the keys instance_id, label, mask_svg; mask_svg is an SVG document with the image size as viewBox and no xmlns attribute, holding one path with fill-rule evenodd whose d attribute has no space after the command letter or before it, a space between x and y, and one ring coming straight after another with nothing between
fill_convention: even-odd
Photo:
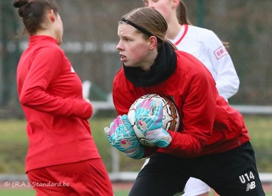
<instances>
[{"instance_id":1,"label":"turquoise and pink goalkeeper glove on the front of the ball","mask_svg":"<svg viewBox=\"0 0 272 196\"><path fill-rule=\"evenodd\" d=\"M158 147L167 147L172 137L163 129L163 104L145 99L135 111L135 123L147 140Z\"/></svg>"}]
</instances>

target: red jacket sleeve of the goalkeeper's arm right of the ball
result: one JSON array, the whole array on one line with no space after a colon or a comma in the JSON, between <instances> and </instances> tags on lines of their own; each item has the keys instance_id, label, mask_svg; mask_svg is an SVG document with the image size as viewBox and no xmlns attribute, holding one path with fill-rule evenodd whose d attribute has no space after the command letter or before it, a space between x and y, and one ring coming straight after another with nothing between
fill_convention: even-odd
<instances>
[{"instance_id":1,"label":"red jacket sleeve of the goalkeeper's arm right of the ball","mask_svg":"<svg viewBox=\"0 0 272 196\"><path fill-rule=\"evenodd\" d=\"M194 75L187 82L184 104L181 108L183 118L182 132L168 131L172 142L168 147L160 148L178 157L194 157L202 151L211 137L216 116L216 87L208 71Z\"/></svg>"}]
</instances>

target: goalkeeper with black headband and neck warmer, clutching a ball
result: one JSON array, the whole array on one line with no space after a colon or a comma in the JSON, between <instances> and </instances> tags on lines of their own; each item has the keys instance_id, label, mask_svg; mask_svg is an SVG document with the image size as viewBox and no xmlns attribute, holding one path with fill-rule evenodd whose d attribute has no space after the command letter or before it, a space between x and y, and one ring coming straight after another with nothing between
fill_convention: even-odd
<instances>
[{"instance_id":1,"label":"goalkeeper with black headband and neck warmer, clutching a ball","mask_svg":"<svg viewBox=\"0 0 272 196\"><path fill-rule=\"evenodd\" d=\"M147 7L118 23L123 68L113 80L113 103L120 116L105 135L127 157L150 157L129 195L175 195L190 177L220 195L264 195L242 115L219 96L203 63L165 38L167 27L159 11ZM130 106L144 94L171 98L180 116L178 131L164 130L161 104L137 106L135 125L156 147L140 145L128 121Z\"/></svg>"}]
</instances>

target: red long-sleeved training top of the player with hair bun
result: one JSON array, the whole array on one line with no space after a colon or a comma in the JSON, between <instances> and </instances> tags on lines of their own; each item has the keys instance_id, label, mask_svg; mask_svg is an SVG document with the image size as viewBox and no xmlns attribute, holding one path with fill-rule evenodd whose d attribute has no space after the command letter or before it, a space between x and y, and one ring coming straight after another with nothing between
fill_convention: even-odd
<instances>
[{"instance_id":1,"label":"red long-sleeved training top of the player with hair bun","mask_svg":"<svg viewBox=\"0 0 272 196\"><path fill-rule=\"evenodd\" d=\"M56 39L31 36L17 68L20 104L27 120L26 169L99 158L87 119L92 105Z\"/></svg>"}]
</instances>

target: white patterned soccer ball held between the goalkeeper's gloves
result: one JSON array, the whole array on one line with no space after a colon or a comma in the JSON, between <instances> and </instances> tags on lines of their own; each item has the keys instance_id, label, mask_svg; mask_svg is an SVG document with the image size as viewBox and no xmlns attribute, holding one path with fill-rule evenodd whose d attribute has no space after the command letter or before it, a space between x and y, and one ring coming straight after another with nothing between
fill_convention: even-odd
<instances>
[{"instance_id":1,"label":"white patterned soccer ball held between the goalkeeper's gloves","mask_svg":"<svg viewBox=\"0 0 272 196\"><path fill-rule=\"evenodd\" d=\"M146 94L139 99L137 99L131 106L128 111L128 121L130 121L133 130L135 131L135 135L138 137L138 140L142 145L152 147L154 146L144 134L137 128L135 125L135 111L138 104L140 104L144 99L152 99L157 102L163 103L163 128L165 130L178 130L178 126L180 125L180 116L178 115L178 109L175 107L175 104L168 99L167 97L161 97L159 94Z\"/></svg>"}]
</instances>

